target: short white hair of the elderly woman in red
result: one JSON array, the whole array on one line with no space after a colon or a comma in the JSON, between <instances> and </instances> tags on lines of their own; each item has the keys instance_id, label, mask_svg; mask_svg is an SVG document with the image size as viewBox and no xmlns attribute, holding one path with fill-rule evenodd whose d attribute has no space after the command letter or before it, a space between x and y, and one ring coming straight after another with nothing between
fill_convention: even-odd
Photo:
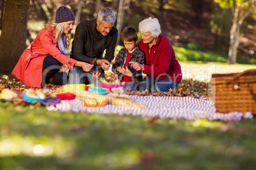
<instances>
[{"instance_id":1,"label":"short white hair of the elderly woman in red","mask_svg":"<svg viewBox=\"0 0 256 170\"><path fill-rule=\"evenodd\" d=\"M153 37L159 37L161 34L161 27L157 18L146 18L139 22L139 32L144 34L146 32L150 32Z\"/></svg>"}]
</instances>

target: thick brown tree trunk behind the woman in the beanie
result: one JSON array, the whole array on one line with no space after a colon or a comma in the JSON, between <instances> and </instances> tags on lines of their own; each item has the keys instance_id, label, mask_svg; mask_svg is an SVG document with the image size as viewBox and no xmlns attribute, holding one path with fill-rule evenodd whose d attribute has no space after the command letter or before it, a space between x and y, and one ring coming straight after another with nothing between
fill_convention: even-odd
<instances>
[{"instance_id":1,"label":"thick brown tree trunk behind the woman in the beanie","mask_svg":"<svg viewBox=\"0 0 256 170\"><path fill-rule=\"evenodd\" d=\"M8 0L0 37L0 73L11 74L25 49L29 0Z\"/></svg>"}]
</instances>

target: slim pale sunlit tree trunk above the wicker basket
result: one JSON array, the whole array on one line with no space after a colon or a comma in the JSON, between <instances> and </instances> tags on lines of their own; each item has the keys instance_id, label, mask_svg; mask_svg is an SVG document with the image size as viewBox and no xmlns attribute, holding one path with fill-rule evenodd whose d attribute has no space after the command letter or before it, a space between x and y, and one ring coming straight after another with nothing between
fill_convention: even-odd
<instances>
[{"instance_id":1,"label":"slim pale sunlit tree trunk above the wicker basket","mask_svg":"<svg viewBox=\"0 0 256 170\"><path fill-rule=\"evenodd\" d=\"M239 8L234 10L234 19L231 27L231 38L229 41L229 58L227 60L228 64L236 63L236 56L238 54L239 46L239 34L240 34L240 24L239 24Z\"/></svg>"}]
</instances>

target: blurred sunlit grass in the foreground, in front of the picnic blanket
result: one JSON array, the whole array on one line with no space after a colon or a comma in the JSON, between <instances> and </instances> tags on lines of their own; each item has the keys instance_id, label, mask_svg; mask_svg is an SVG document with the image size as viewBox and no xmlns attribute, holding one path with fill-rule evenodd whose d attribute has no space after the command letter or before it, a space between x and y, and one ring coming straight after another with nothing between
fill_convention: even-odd
<instances>
[{"instance_id":1,"label":"blurred sunlit grass in the foreground, in front of the picnic blanket","mask_svg":"<svg viewBox=\"0 0 256 170\"><path fill-rule=\"evenodd\" d=\"M0 169L253 169L255 119L49 112L0 103ZM40 165L40 166L38 166Z\"/></svg>"}]
</instances>

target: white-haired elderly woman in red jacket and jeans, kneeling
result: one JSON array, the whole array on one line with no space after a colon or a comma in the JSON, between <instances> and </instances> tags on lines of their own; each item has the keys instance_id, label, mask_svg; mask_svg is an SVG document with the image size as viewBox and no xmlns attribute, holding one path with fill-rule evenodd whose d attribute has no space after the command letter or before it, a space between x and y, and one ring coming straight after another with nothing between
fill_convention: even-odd
<instances>
[{"instance_id":1,"label":"white-haired elderly woman in red jacket and jeans, kneeling","mask_svg":"<svg viewBox=\"0 0 256 170\"><path fill-rule=\"evenodd\" d=\"M145 53L145 63L131 63L136 70L142 70L146 77L139 82L138 90L167 92L174 89L182 79L180 63L176 59L171 42L162 36L157 18L147 18L139 23L142 40L139 48Z\"/></svg>"}]
</instances>

